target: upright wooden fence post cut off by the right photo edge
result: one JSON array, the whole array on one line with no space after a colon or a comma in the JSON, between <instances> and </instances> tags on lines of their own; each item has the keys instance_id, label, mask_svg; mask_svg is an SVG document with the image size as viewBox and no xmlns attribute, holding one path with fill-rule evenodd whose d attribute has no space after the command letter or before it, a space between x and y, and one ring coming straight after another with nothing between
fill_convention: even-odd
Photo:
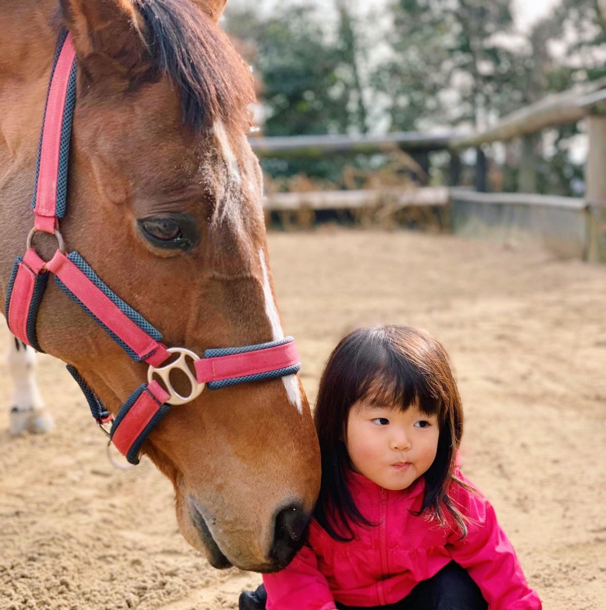
<instances>
[{"instance_id":1,"label":"upright wooden fence post cut off by the right photo edge","mask_svg":"<svg viewBox=\"0 0 606 610\"><path fill-rule=\"evenodd\" d=\"M587 259L606 262L606 117L587 117L589 151L585 165L585 199L588 208Z\"/></svg>"}]
</instances>

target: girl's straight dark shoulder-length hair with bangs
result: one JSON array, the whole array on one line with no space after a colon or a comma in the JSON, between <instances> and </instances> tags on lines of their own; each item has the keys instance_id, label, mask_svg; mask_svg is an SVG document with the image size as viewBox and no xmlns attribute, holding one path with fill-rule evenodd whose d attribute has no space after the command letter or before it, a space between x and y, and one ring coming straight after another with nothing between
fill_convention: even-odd
<instances>
[{"instance_id":1,"label":"girl's straight dark shoulder-length hair with bangs","mask_svg":"<svg viewBox=\"0 0 606 610\"><path fill-rule=\"evenodd\" d=\"M428 512L446 525L444 508L462 537L465 518L448 490L452 484L471 489L454 474L463 434L463 410L449 358L428 332L409 326L360 328L337 345L320 380L314 423L322 460L322 481L315 519L335 540L354 539L352 524L372 526L360 512L347 485L349 456L345 444L349 411L371 396L405 411L413 404L440 425L435 459L425 477L418 514Z\"/></svg>"}]
</instances>

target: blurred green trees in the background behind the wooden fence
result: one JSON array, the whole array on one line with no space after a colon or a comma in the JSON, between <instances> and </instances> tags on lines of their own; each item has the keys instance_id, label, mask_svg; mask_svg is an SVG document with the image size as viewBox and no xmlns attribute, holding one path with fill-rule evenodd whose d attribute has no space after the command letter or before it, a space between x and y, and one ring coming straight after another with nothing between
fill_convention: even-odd
<instances>
[{"instance_id":1,"label":"blurred green trees in the background behind the wooden fence","mask_svg":"<svg viewBox=\"0 0 606 610\"><path fill-rule=\"evenodd\" d=\"M560 0L523 35L512 4L391 0L366 21L348 0L323 5L334 20L312 4L276 3L268 16L232 5L227 30L255 66L265 135L363 133L377 123L391 131L481 129L549 93L606 77L605 0ZM570 156L578 133L563 126L538 138L539 192L578 194L582 168ZM506 189L517 187L516 146L507 145ZM337 187L349 185L344 168L362 176L387 163L380 155L263 160L271 176L306 174Z\"/></svg>"}]
</instances>

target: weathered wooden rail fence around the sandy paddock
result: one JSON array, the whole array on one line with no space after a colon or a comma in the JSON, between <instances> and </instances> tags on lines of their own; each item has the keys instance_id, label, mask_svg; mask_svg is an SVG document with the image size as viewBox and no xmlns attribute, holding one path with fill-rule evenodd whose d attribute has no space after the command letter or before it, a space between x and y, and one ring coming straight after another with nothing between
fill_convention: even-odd
<instances>
[{"instance_id":1,"label":"weathered wooden rail fence around the sandy paddock","mask_svg":"<svg viewBox=\"0 0 606 610\"><path fill-rule=\"evenodd\" d=\"M532 159L532 138L543 129L565 123L585 120L589 152L585 166L585 199L541 197L538 195L488 195L486 190L487 163L483 146L493 142L507 142L515 138L522 140L522 162L520 184L525 190L535 190L535 163ZM429 174L429 156L433 150L447 150L451 153L451 176L455 176L451 186L457 185L460 169L460 154L467 148L477 151L476 189L479 193L463 196L462 192L451 190L447 195L447 206L451 213L452 228L468 230L470 219L476 217L478 226L485 229L502 224L522 229L528 223L531 234L546 223L549 229L542 234L545 239L565 244L571 241L571 252L587 260L606 262L606 79L579 85L569 91L547 96L531 106L502 118L489 129L476 133L461 134L419 134L402 132L384 136L304 136L294 138L251 138L255 152L265 157L321 157L332 154L370 154L399 148L413 156L421 156L421 166ZM418 158L418 157L415 157ZM396 195L394 192L348 191L323 193L280 193L268 198L268 209L280 213L294 214L306 210L307 217L313 217L317 210L352 209L383 206L386 201L396 209L410 207L444 206L445 191L419 190L416 194L407 190ZM439 201L438 201L439 200ZM438 203L435 203L438 201ZM398 207L399 206L399 207ZM466 210L466 211L465 211ZM483 211L480 211L483 210ZM501 210L496 212L496 210ZM507 211L508 210L508 211ZM521 211L525 210L525 211ZM531 211L534 210L534 211ZM480 222L479 219L484 221ZM501 220L497 220L497 219ZM513 219L516 219L515 221ZM571 226L567 228L567 221ZM466 219L463 221L462 219ZM492 220L489 220L492 219ZM510 220L507 220L510 219ZM558 246L560 247L560 246ZM565 248L566 249L566 248Z\"/></svg>"}]
</instances>

